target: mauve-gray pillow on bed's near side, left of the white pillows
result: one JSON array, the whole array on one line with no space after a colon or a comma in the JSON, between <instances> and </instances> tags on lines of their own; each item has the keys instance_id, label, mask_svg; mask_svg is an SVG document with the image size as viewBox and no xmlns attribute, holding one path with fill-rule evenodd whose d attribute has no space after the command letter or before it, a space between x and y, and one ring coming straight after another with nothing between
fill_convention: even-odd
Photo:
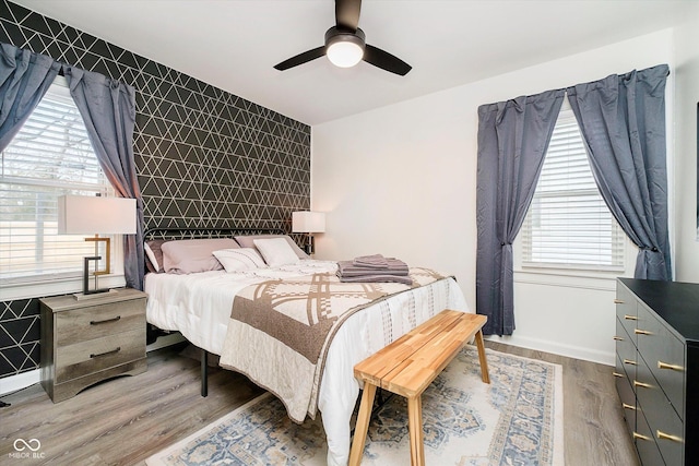
<instances>
[{"instance_id":1,"label":"mauve-gray pillow on bed's near side, left of the white pillows","mask_svg":"<svg viewBox=\"0 0 699 466\"><path fill-rule=\"evenodd\" d=\"M222 271L223 265L213 254L221 249L236 249L230 238L183 239L163 243L163 267L168 274L194 274Z\"/></svg>"}]
</instances>

